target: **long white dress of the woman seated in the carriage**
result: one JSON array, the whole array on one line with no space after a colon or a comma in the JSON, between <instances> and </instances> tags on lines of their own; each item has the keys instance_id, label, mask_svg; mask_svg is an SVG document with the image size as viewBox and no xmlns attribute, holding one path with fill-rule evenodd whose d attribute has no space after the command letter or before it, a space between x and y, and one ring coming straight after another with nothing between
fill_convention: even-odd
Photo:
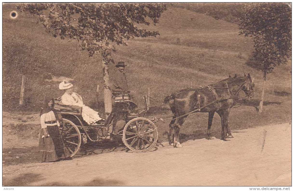
<instances>
[{"instance_id":1,"label":"long white dress of the woman seated in the carriage","mask_svg":"<svg viewBox=\"0 0 294 191\"><path fill-rule=\"evenodd\" d=\"M77 93L64 93L63 96L61 96L61 102L64 103L64 105L77 105L79 107L82 107L83 120L86 121L88 124L93 124L101 120L98 112L84 105L82 97Z\"/></svg>"}]
</instances>

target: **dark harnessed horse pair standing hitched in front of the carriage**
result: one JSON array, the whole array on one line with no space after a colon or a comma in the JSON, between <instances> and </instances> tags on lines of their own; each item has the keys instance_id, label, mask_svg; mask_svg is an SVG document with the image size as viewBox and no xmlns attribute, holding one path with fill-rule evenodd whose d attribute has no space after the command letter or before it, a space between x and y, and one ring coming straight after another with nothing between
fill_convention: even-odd
<instances>
[{"instance_id":1,"label":"dark harnessed horse pair standing hitched in front of the carriage","mask_svg":"<svg viewBox=\"0 0 294 191\"><path fill-rule=\"evenodd\" d=\"M240 91L244 91L248 98L252 98L254 83L250 74L244 77L226 78L218 83L198 89L183 89L167 96L164 103L169 103L174 116L171 120L169 140L174 147L180 148L180 128L188 117L188 113L208 112L207 139L211 139L210 128L214 113L221 118L221 140L233 138L228 127L230 108L238 101ZM197 110L193 112L194 110ZM185 116L182 116L185 115ZM174 139L173 138L174 132Z\"/></svg>"}]
</instances>

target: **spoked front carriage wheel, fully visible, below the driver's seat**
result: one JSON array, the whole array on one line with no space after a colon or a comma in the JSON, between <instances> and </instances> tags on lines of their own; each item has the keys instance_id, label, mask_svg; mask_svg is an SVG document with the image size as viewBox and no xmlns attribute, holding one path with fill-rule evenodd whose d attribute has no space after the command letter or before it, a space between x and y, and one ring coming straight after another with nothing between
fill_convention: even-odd
<instances>
[{"instance_id":1,"label":"spoked front carriage wheel, fully visible, below the driver's seat","mask_svg":"<svg viewBox=\"0 0 294 191\"><path fill-rule=\"evenodd\" d=\"M147 118L134 118L123 129L123 143L134 152L150 150L156 144L157 138L157 127Z\"/></svg>"}]
</instances>

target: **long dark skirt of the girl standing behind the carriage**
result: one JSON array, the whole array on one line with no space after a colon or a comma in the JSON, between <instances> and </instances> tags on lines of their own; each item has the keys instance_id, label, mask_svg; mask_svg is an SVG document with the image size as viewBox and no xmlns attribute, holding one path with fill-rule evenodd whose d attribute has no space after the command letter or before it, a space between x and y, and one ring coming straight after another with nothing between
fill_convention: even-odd
<instances>
[{"instance_id":1,"label":"long dark skirt of the girl standing behind the carriage","mask_svg":"<svg viewBox=\"0 0 294 191\"><path fill-rule=\"evenodd\" d=\"M41 129L39 136L39 149L41 162L53 162L69 158L69 150L64 146L62 137L57 125L47 126L49 137L42 138L44 129Z\"/></svg>"}]
</instances>

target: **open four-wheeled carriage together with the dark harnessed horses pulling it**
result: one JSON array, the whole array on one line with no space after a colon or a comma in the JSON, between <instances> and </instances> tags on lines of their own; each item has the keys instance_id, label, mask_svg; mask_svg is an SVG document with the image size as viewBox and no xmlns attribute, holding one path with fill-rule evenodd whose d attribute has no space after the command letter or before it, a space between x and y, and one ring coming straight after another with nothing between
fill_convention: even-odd
<instances>
[{"instance_id":1,"label":"open four-wheeled carriage together with the dark harnessed horses pulling it","mask_svg":"<svg viewBox=\"0 0 294 191\"><path fill-rule=\"evenodd\" d=\"M210 139L210 128L214 113L221 117L221 139L233 138L228 127L228 115L230 108L236 104L252 100L254 83L248 76L226 78L218 83L211 84L205 88L183 89L167 96L164 103L169 103L172 115L170 123L169 140L174 147L181 147L179 142L180 127L187 116L191 113L208 112L207 137ZM239 93L243 91L248 98L240 98ZM110 133L122 135L122 141L126 147L134 152L145 152L153 148L157 142L157 127L153 122L161 118L146 118L148 105L145 101L145 110L137 115L133 114L136 104L133 103L127 94L113 93L114 105L109 114L104 114L104 120L100 124L88 125L82 118L82 108L63 105L59 99L53 100L54 105L60 106L55 111L59 114L60 133L66 148L74 156L81 144L90 141L101 141L109 138ZM240 103L238 103L240 102ZM70 110L64 109L69 107ZM58 111L57 111L58 110ZM101 115L101 114L100 114ZM103 118L103 115L101 116ZM125 121L124 127L116 127L119 119ZM228 136L227 136L228 135Z\"/></svg>"}]
</instances>

